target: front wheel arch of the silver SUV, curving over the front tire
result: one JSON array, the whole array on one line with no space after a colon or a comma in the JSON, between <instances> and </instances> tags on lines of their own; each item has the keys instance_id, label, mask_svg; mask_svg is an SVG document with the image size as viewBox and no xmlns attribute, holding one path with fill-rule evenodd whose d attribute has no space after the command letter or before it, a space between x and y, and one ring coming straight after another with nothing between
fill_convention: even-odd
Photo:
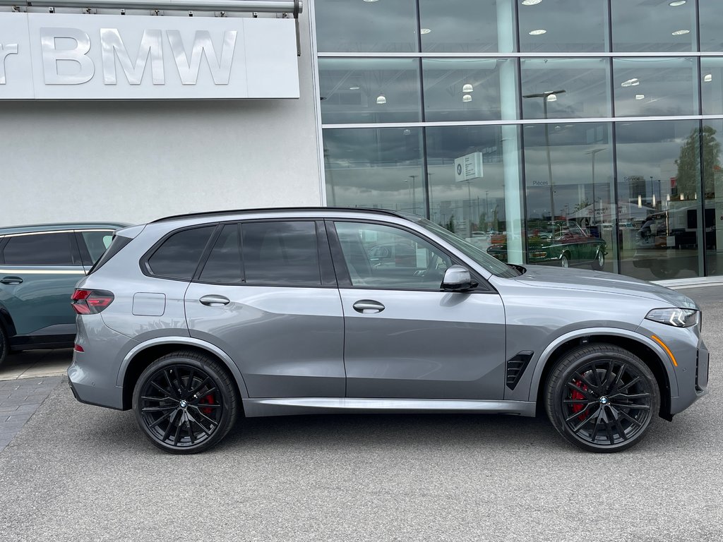
<instances>
[{"instance_id":1,"label":"front wheel arch of the silver SUV, curving over the front tire","mask_svg":"<svg viewBox=\"0 0 723 542\"><path fill-rule=\"evenodd\" d=\"M666 354L659 345L638 333L626 330L581 330L559 337L542 353L534 369L530 384L530 400L544 411L544 390L555 362L570 350L592 343L607 343L618 346L641 358L652 371L660 390L659 416L672 419L671 397L677 395L677 379Z\"/></svg>"}]
</instances>

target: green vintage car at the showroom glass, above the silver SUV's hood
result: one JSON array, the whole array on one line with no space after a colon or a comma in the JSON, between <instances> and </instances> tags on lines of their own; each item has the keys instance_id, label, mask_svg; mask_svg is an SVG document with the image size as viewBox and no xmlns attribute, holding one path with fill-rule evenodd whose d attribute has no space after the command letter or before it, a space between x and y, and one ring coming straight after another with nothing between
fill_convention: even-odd
<instances>
[{"instance_id":1,"label":"green vintage car at the showroom glass, above the silver SUV's hood","mask_svg":"<svg viewBox=\"0 0 723 542\"><path fill-rule=\"evenodd\" d=\"M506 240L495 242L487 253L507 262ZM602 270L607 254L607 243L591 237L573 220L531 222L527 228L528 264L555 264L561 267L589 265Z\"/></svg>"}]
</instances>

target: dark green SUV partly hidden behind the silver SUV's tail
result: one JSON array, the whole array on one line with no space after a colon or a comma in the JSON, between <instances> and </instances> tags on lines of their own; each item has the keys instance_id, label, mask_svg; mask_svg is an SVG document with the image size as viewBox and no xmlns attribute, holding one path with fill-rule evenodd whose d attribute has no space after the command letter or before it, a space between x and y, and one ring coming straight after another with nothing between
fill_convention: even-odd
<instances>
[{"instance_id":1,"label":"dark green SUV partly hidden behind the silver SUV's tail","mask_svg":"<svg viewBox=\"0 0 723 542\"><path fill-rule=\"evenodd\" d=\"M69 298L124 224L43 224L0 228L0 364L8 353L69 348Z\"/></svg>"}]
</instances>

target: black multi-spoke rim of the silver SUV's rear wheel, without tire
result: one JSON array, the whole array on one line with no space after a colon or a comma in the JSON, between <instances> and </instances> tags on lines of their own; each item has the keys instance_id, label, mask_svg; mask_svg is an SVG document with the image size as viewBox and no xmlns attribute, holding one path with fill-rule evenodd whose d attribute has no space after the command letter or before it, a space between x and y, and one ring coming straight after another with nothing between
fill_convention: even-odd
<instances>
[{"instance_id":1,"label":"black multi-spoke rim of the silver SUV's rear wheel, without tire","mask_svg":"<svg viewBox=\"0 0 723 542\"><path fill-rule=\"evenodd\" d=\"M213 436L224 403L213 378L197 367L174 364L145 380L140 415L154 439L173 447L192 447Z\"/></svg>"}]
</instances>

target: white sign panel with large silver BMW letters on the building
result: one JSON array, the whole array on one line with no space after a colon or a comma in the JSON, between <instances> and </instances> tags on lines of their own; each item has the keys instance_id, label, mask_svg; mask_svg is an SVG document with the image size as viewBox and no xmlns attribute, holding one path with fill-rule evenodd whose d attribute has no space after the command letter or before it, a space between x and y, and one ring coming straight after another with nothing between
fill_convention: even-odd
<instances>
[{"instance_id":1,"label":"white sign panel with large silver BMW letters on the building","mask_svg":"<svg viewBox=\"0 0 723 542\"><path fill-rule=\"evenodd\" d=\"M291 19L0 13L0 99L299 98Z\"/></svg>"}]
</instances>

